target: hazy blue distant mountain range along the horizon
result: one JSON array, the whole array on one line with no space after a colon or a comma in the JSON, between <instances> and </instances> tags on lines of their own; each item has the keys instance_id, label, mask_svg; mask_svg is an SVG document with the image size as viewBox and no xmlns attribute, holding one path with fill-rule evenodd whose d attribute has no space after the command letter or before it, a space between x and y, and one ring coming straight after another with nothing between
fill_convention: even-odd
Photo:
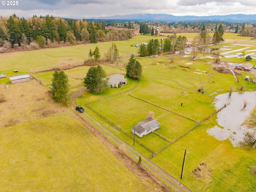
<instances>
[{"instance_id":1,"label":"hazy blue distant mountain range along the horizon","mask_svg":"<svg viewBox=\"0 0 256 192\"><path fill-rule=\"evenodd\" d=\"M141 20L141 21L227 21L227 22L249 22L256 23L256 14L232 14L214 16L174 16L169 14L129 14L108 17L90 17L87 19L97 20Z\"/></svg>"}]
</instances>

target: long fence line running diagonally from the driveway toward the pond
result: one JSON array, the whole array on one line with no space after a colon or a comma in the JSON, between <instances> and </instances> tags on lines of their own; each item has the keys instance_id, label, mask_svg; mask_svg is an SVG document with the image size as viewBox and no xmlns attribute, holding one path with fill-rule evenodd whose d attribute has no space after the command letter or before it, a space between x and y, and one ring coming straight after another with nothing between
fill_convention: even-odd
<instances>
[{"instance_id":1,"label":"long fence line running diagonally from the driveway toward the pond","mask_svg":"<svg viewBox=\"0 0 256 192\"><path fill-rule=\"evenodd\" d=\"M204 118L202 121L200 121L198 124L196 124L195 126L193 126L192 128L190 128L189 130L187 130L186 132L184 132L183 134L181 134L180 136L178 136L176 139L172 140L171 142L169 142L167 145L163 146L160 150L158 150L155 153L152 153L150 155L150 158L154 157L156 154L160 153L162 150L164 150L165 148L167 148L170 144L176 142L178 139L182 138L184 135L186 135L188 132L192 131L194 128L196 128L198 125L200 125L202 122L208 120L209 118L211 118L214 114L220 112L222 109L226 108L226 106L228 106L230 104L230 102L228 104L224 104L224 106L222 106L220 109L216 110L214 113L210 114L208 117ZM155 133L156 134L156 133ZM158 136L160 136L160 134L157 134ZM160 136L161 138L165 139L164 137Z\"/></svg>"}]
</instances>

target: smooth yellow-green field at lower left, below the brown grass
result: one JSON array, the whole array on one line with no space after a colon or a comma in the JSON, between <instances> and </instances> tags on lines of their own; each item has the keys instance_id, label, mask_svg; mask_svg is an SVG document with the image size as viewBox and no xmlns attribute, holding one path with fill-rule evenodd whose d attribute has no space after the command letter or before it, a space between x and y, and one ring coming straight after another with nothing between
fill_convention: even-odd
<instances>
[{"instance_id":1,"label":"smooth yellow-green field at lower left, below the brown grass","mask_svg":"<svg viewBox=\"0 0 256 192\"><path fill-rule=\"evenodd\" d=\"M52 115L0 132L1 191L147 190L73 116Z\"/></svg>"}]
</instances>

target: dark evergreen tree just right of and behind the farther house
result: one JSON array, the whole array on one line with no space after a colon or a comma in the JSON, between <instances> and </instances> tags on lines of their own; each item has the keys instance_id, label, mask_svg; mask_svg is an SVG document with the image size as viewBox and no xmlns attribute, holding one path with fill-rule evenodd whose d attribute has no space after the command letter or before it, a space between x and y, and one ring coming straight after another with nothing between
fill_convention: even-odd
<instances>
[{"instance_id":1,"label":"dark evergreen tree just right of and behind the farther house","mask_svg":"<svg viewBox=\"0 0 256 192\"><path fill-rule=\"evenodd\" d=\"M132 79L140 79L142 77L142 65L131 55L126 66L126 76Z\"/></svg>"}]
</instances>

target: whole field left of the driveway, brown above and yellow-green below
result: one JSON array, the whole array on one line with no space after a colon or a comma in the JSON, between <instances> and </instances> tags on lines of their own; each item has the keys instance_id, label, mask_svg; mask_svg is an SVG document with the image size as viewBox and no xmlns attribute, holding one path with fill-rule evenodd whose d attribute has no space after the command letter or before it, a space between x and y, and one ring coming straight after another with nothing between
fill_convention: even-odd
<instances>
[{"instance_id":1,"label":"whole field left of the driveway, brown above and yellow-green below","mask_svg":"<svg viewBox=\"0 0 256 192\"><path fill-rule=\"evenodd\" d=\"M131 172L38 81L1 84L0 92L1 191L160 188Z\"/></svg>"}]
</instances>

